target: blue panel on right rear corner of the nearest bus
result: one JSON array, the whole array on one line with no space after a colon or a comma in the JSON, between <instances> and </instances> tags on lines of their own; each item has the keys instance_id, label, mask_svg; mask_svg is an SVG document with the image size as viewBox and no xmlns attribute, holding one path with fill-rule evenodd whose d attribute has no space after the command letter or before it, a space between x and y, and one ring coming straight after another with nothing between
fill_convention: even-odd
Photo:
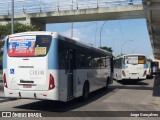
<instances>
[{"instance_id":1,"label":"blue panel on right rear corner of the nearest bus","mask_svg":"<svg viewBox=\"0 0 160 120\"><path fill-rule=\"evenodd\" d=\"M58 69L58 39L52 39L48 52L48 69Z\"/></svg>"}]
</instances>

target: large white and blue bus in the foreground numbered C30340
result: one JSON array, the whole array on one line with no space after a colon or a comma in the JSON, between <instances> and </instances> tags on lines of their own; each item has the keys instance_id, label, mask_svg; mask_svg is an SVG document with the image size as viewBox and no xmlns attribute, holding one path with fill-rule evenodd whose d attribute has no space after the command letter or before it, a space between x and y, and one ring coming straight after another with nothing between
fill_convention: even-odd
<instances>
[{"instance_id":1,"label":"large white and blue bus in the foreground numbered C30340","mask_svg":"<svg viewBox=\"0 0 160 120\"><path fill-rule=\"evenodd\" d=\"M113 82L110 52L56 32L8 36L4 45L6 97L69 101Z\"/></svg>"}]
</instances>

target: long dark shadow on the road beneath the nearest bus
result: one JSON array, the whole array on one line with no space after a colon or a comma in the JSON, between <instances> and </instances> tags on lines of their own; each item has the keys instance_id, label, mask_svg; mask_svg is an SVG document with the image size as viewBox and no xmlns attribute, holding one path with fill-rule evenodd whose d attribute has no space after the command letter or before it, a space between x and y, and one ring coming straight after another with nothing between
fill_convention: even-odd
<instances>
[{"instance_id":1,"label":"long dark shadow on the road beneath the nearest bus","mask_svg":"<svg viewBox=\"0 0 160 120\"><path fill-rule=\"evenodd\" d=\"M45 112L66 112L74 110L80 107L83 107L87 104L90 104L93 101L98 100L99 98L107 95L112 92L115 88L109 87L107 90L105 88L92 92L86 101L82 101L81 98L74 99L69 102L58 102L58 101L49 101L43 100L38 102L33 102L21 106L16 106L14 108L18 109L27 109L27 110L41 110Z\"/></svg>"}]
</instances>

